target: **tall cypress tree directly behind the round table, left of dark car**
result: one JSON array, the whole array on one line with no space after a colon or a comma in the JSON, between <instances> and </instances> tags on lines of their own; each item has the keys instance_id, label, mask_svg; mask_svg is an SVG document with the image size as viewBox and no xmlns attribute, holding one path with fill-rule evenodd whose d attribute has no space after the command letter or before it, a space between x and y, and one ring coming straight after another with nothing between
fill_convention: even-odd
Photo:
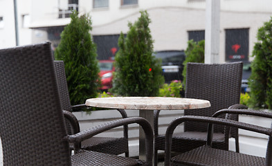
<instances>
[{"instance_id":1,"label":"tall cypress tree directly behind the round table, left of dark car","mask_svg":"<svg viewBox=\"0 0 272 166\"><path fill-rule=\"evenodd\" d=\"M153 53L149 16L140 12L138 21L129 23L129 31L118 39L116 73L111 91L122 96L157 96L162 86L161 62Z\"/></svg>"}]
</instances>

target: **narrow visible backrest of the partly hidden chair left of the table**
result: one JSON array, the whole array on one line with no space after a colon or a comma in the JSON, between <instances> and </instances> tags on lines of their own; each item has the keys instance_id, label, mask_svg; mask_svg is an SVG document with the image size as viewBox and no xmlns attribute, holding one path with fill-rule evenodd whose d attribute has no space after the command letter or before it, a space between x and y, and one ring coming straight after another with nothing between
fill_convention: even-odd
<instances>
[{"instance_id":1,"label":"narrow visible backrest of the partly hidden chair left of the table","mask_svg":"<svg viewBox=\"0 0 272 166\"><path fill-rule=\"evenodd\" d=\"M54 61L55 70L57 74L57 84L59 85L60 90L60 102L62 105L62 109L66 111L72 111L69 90L66 81L64 62L63 61Z\"/></svg>"}]
</instances>

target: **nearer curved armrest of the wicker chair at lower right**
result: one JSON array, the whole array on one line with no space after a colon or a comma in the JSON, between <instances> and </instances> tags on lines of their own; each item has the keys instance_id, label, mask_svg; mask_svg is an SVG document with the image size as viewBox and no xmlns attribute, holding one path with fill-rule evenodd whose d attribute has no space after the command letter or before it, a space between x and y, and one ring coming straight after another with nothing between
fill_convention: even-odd
<instances>
[{"instance_id":1,"label":"nearer curved armrest of the wicker chair at lower right","mask_svg":"<svg viewBox=\"0 0 272 166\"><path fill-rule=\"evenodd\" d=\"M170 165L170 159L171 159L171 146L172 146L172 134L174 132L174 129L185 121L197 121L197 122L208 122L210 124L222 124L229 127L238 127L239 129L246 129L248 131L255 131L257 133L264 133L268 136L272 136L272 129L266 128L266 127L260 127L254 124L248 124L244 122L237 122L235 120L228 120L228 119L222 119L222 118L211 118L211 117L204 117L204 116L183 116L181 118L176 118L173 120L170 125L167 127L166 133L165 133L165 165ZM212 126L212 125L211 125ZM212 132L212 130L210 130ZM207 145L211 145L212 143L212 133L209 134L210 138L207 138ZM271 139L270 139L271 140ZM271 141L269 141L269 145L271 146ZM266 157L269 157L266 154ZM269 157L270 158L270 157ZM268 160L268 158L266 158Z\"/></svg>"}]
</instances>

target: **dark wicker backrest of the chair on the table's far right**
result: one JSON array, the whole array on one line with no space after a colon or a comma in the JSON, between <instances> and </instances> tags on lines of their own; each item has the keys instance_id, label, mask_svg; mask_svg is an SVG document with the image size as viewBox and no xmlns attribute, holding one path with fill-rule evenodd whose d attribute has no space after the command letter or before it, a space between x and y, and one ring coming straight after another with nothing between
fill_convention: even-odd
<instances>
[{"instance_id":1,"label":"dark wicker backrest of the chair on the table's far right","mask_svg":"<svg viewBox=\"0 0 272 166\"><path fill-rule=\"evenodd\" d=\"M211 107L185 110L185 116L212 116L220 109L239 104L242 84L242 62L226 64L188 63L185 98L209 100ZM237 119L237 117L235 117ZM207 125L185 122L185 131L207 131ZM215 126L215 132L224 127Z\"/></svg>"}]
</instances>

